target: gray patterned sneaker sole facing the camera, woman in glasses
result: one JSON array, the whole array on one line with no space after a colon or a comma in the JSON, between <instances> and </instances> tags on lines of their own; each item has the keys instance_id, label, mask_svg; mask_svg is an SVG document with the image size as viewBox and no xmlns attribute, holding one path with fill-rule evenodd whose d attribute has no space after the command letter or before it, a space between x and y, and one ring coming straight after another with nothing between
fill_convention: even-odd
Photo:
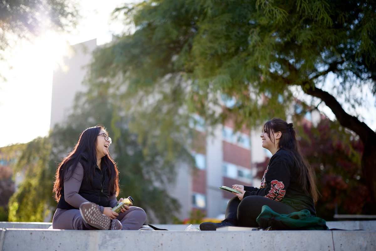
<instances>
[{"instance_id":1,"label":"gray patterned sneaker sole facing the camera, woman in glasses","mask_svg":"<svg viewBox=\"0 0 376 251\"><path fill-rule=\"evenodd\" d=\"M111 218L100 213L96 204L84 202L80 205L82 219L89 225L99 230L108 230L111 225Z\"/></svg>"}]
</instances>

